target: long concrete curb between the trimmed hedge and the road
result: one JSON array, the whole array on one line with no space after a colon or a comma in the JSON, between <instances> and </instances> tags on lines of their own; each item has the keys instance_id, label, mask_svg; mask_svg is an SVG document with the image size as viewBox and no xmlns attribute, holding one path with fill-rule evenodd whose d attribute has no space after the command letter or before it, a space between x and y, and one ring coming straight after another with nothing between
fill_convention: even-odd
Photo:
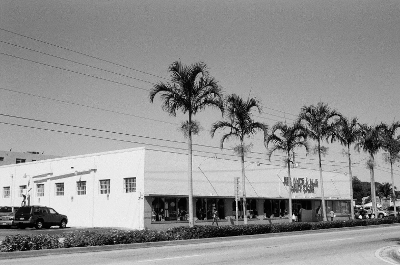
<instances>
[{"instance_id":1,"label":"long concrete curb between the trimmed hedge and the road","mask_svg":"<svg viewBox=\"0 0 400 265\"><path fill-rule=\"evenodd\" d=\"M253 235L238 235L235 237L223 237L223 238L208 238L208 239L188 239L188 240L176 240L176 241L159 241L159 242L147 242L147 243L132 243L132 244L120 244L120 245L108 245L108 246L93 246L93 247L75 247L75 248L59 248L59 249L41 249L41 250L27 250L27 251L15 251L15 252L1 252L0 259L14 259L14 258L28 258L36 256L49 256L49 255L64 255L73 253L88 253L88 252L99 252L99 251L112 251L112 250L125 250L125 249L138 249L146 247L164 247L164 246L179 246L197 243L212 243L212 242L225 242L225 241L236 241L243 239L259 239L259 238L276 238L287 235L300 235L300 234L314 234L314 233L328 233L343 230L359 230L366 227L374 229L385 226L400 226L397 224L381 224L381 225L367 225L367 226L356 226L356 227L340 227L320 230L306 230L306 231L294 231L294 232L282 232L282 233L268 233L268 234L253 234ZM400 250L400 249L399 249ZM400 252L398 253L400 256Z\"/></svg>"}]
</instances>

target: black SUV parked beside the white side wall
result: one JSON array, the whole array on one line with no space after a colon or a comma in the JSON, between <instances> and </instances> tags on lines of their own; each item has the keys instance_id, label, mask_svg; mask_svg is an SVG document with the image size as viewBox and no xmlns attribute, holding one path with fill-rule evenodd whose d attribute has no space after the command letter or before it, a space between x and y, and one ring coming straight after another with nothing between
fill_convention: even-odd
<instances>
[{"instance_id":1,"label":"black SUV parked beside the white side wall","mask_svg":"<svg viewBox=\"0 0 400 265\"><path fill-rule=\"evenodd\" d=\"M22 206L15 213L14 223L20 229L36 227L36 229L50 228L52 225L59 225L65 228L68 217L57 213L54 209L45 206Z\"/></svg>"}]
</instances>

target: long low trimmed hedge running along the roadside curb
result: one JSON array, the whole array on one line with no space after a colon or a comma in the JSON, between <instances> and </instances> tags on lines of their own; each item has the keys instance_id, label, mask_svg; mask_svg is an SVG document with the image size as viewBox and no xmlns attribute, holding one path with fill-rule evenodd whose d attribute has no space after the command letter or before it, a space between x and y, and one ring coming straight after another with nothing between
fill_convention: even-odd
<instances>
[{"instance_id":1,"label":"long low trimmed hedge running along the roadside curb","mask_svg":"<svg viewBox=\"0 0 400 265\"><path fill-rule=\"evenodd\" d=\"M393 223L400 223L400 217L314 223L298 222L237 226L194 226L192 228L180 226L167 230L87 230L63 235L62 241L60 241L62 236L57 234L17 234L8 235L5 238L2 244L0 244L0 252L234 237L236 235L281 233Z\"/></svg>"}]
</instances>

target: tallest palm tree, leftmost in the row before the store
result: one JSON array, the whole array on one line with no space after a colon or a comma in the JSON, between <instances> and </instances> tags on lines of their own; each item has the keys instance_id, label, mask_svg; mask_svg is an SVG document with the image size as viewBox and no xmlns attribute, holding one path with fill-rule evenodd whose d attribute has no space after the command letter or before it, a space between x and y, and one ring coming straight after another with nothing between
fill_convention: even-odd
<instances>
[{"instance_id":1,"label":"tallest palm tree, leftmost in the row before the store","mask_svg":"<svg viewBox=\"0 0 400 265\"><path fill-rule=\"evenodd\" d=\"M188 137L188 180L189 180L189 226L193 227L193 182L192 182L192 134L200 132L200 126L192 121L192 116L207 106L217 107L223 112L222 89L216 79L208 75L207 65L203 62L190 66L173 62L168 71L172 83L159 82L149 93L150 102L160 94L163 110L176 116L176 111L189 114L189 121L182 123L182 131Z\"/></svg>"}]
</instances>

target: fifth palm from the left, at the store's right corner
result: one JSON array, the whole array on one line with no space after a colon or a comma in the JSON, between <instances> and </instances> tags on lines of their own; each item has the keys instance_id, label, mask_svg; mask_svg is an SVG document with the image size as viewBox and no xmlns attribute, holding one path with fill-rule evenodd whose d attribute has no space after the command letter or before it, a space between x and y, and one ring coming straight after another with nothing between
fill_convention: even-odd
<instances>
[{"instance_id":1,"label":"fifth palm from the left, at the store's right corner","mask_svg":"<svg viewBox=\"0 0 400 265\"><path fill-rule=\"evenodd\" d=\"M347 147L346 155L349 157L349 175L350 175L350 208L352 219L354 219L354 208L353 208L353 175L352 175L352 160L350 158L350 146L354 144L360 134L359 124L357 118L349 122L346 117L340 117L336 120L337 127L331 136L331 142L338 141L341 145Z\"/></svg>"}]
</instances>

